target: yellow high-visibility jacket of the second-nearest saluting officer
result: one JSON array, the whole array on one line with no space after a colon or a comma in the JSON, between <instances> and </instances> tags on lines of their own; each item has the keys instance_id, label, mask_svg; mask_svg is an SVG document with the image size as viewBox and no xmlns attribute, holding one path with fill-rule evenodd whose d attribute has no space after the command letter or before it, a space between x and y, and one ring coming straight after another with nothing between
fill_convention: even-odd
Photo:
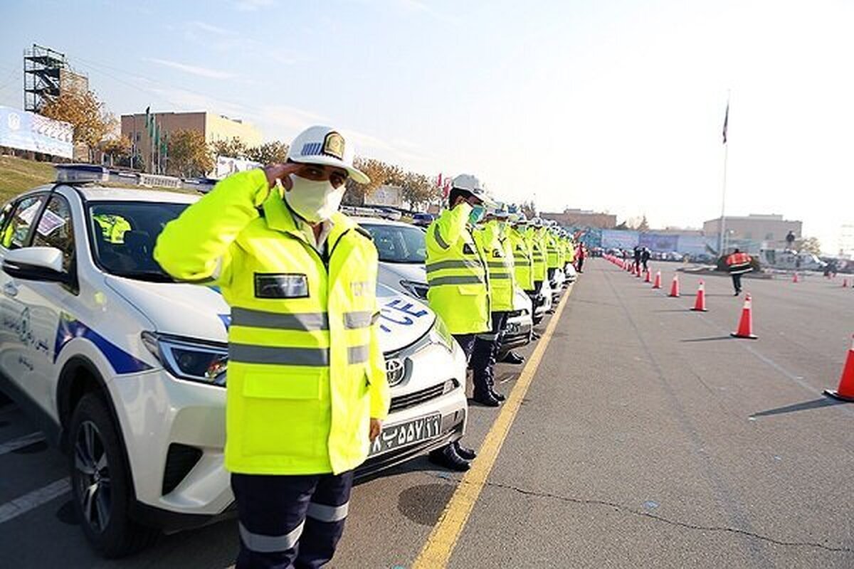
<instances>
[{"instance_id":1,"label":"yellow high-visibility jacket of the second-nearest saluting officer","mask_svg":"<svg viewBox=\"0 0 854 569\"><path fill-rule=\"evenodd\" d=\"M448 209L427 228L427 302L451 334L492 328L486 263L469 229L471 206Z\"/></svg>"}]
</instances>

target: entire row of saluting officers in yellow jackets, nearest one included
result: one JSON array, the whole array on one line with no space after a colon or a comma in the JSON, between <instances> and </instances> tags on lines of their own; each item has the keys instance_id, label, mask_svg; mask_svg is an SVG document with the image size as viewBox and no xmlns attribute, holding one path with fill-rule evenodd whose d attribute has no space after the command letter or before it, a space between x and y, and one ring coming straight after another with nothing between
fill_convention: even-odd
<instances>
[{"instance_id":1,"label":"entire row of saluting officers in yellow jackets, nearest one included","mask_svg":"<svg viewBox=\"0 0 854 569\"><path fill-rule=\"evenodd\" d=\"M389 414L377 249L338 212L348 179L369 181L352 144L312 126L284 164L225 178L155 247L176 280L216 285L231 306L225 468L237 569L316 569L332 559L354 469ZM494 407L504 399L493 366L513 288L536 298L573 250L544 224L494 206L477 178L453 185L427 233L428 298L471 358L475 400ZM453 444L431 457L465 470L475 453Z\"/></svg>"}]
</instances>

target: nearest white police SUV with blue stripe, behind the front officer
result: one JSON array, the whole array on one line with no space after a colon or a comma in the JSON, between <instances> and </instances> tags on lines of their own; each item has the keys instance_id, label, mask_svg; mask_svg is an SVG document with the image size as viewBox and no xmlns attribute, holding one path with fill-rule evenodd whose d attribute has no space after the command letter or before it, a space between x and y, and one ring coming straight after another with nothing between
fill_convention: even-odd
<instances>
[{"instance_id":1,"label":"nearest white police SUV with blue stripe, behind the front officer","mask_svg":"<svg viewBox=\"0 0 854 569\"><path fill-rule=\"evenodd\" d=\"M119 556L231 512L229 308L151 258L163 226L197 195L108 182L185 183L58 170L64 183L0 213L0 386L67 450L83 531ZM360 475L461 437L467 412L465 357L442 321L388 287L377 296L391 414Z\"/></svg>"}]
</instances>

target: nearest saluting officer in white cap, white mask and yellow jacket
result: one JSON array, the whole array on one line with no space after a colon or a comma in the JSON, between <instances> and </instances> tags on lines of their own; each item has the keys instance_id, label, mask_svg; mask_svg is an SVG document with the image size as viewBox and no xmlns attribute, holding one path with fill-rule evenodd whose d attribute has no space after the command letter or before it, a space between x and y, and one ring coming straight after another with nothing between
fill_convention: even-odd
<instances>
[{"instance_id":1,"label":"nearest saluting officer in white cap, white mask and yellow jacket","mask_svg":"<svg viewBox=\"0 0 854 569\"><path fill-rule=\"evenodd\" d=\"M225 467L238 568L332 558L353 470L388 414L377 250L337 212L347 178L368 181L353 155L341 134L313 126L286 164L218 183L155 248L167 272L218 285L231 305Z\"/></svg>"}]
</instances>

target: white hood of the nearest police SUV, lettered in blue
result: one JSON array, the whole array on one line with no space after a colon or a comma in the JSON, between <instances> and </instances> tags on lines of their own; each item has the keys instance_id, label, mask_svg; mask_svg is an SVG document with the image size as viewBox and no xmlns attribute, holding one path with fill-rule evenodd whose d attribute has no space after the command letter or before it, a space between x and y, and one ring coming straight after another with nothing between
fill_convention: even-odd
<instances>
[{"instance_id":1,"label":"white hood of the nearest police SUV, lettered in blue","mask_svg":"<svg viewBox=\"0 0 854 569\"><path fill-rule=\"evenodd\" d=\"M132 281L118 276L107 276L106 284L153 322L157 332L227 341L231 310L215 287ZM418 300L382 284L377 285L377 304L384 352L419 340L436 320L436 315Z\"/></svg>"}]
</instances>

